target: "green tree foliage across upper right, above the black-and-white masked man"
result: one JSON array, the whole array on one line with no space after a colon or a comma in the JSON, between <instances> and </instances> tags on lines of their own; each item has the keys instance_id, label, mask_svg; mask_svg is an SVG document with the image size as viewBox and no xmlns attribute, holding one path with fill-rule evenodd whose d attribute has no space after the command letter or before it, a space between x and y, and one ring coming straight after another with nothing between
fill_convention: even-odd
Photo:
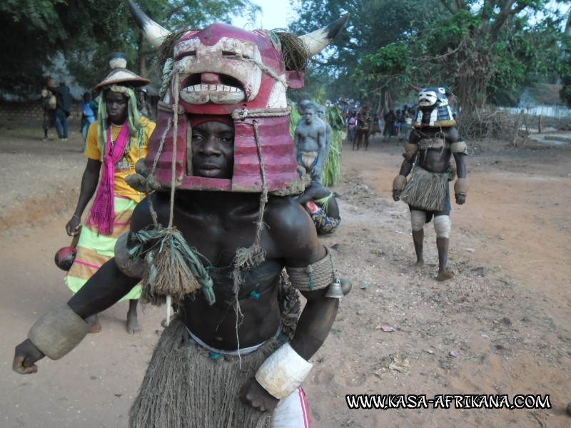
<instances>
[{"instance_id":1,"label":"green tree foliage across upper right, above the black-and-white masked man","mask_svg":"<svg viewBox=\"0 0 571 428\"><path fill-rule=\"evenodd\" d=\"M550 0L297 1L296 29L350 11L328 76L353 84L380 106L403 99L409 83L448 86L465 112L517 99L530 76L560 71L561 16ZM350 77L350 78L349 78ZM336 81L335 88L343 91ZM571 93L571 91L569 91Z\"/></svg>"}]
</instances>

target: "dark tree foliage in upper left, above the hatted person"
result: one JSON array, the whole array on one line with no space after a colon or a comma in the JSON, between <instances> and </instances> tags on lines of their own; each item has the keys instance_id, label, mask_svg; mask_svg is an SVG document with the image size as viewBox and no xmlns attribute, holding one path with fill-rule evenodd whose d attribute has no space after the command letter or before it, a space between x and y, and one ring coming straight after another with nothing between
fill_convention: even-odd
<instances>
[{"instance_id":1,"label":"dark tree foliage in upper left, above the hatted person","mask_svg":"<svg viewBox=\"0 0 571 428\"><path fill-rule=\"evenodd\" d=\"M166 29L201 28L253 16L250 0L138 0L141 9ZM49 72L64 63L80 86L93 87L108 70L107 56L122 51L128 67L146 76L156 52L143 43L122 0L0 1L0 97L36 98ZM63 59L63 60L62 60ZM62 60L62 61L60 61Z\"/></svg>"}]
</instances>

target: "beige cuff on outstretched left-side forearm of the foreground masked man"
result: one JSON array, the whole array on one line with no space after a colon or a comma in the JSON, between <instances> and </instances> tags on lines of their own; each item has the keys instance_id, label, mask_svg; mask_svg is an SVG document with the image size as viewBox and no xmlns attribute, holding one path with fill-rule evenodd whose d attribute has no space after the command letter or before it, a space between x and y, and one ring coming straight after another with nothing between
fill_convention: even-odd
<instances>
[{"instance_id":1,"label":"beige cuff on outstretched left-side forearm of the foreground masked man","mask_svg":"<svg viewBox=\"0 0 571 428\"><path fill-rule=\"evenodd\" d=\"M59 360L84 340L89 325L68 305L46 313L28 332L28 339L51 360Z\"/></svg>"}]
</instances>

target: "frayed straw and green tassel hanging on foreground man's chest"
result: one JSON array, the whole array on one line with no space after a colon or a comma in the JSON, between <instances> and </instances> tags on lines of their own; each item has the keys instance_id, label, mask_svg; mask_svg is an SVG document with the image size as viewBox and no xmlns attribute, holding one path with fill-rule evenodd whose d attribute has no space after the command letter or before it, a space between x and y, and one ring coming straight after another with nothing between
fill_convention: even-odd
<instances>
[{"instance_id":1,"label":"frayed straw and green tassel hanging on foreground man's chest","mask_svg":"<svg viewBox=\"0 0 571 428\"><path fill-rule=\"evenodd\" d=\"M162 305L167 295L181 302L186 295L198 290L203 292L209 305L216 301L212 278L180 230L174 227L140 230L131 234L130 240L133 246L128 254L131 258L139 258L146 253L143 302Z\"/></svg>"}]
</instances>

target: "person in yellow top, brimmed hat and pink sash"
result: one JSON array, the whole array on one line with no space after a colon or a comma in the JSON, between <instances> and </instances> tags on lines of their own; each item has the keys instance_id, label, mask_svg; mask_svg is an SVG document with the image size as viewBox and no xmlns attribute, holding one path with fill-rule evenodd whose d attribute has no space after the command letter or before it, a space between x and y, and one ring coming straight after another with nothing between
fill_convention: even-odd
<instances>
[{"instance_id":1,"label":"person in yellow top, brimmed hat and pink sash","mask_svg":"<svg viewBox=\"0 0 571 428\"><path fill-rule=\"evenodd\" d=\"M113 257L117 238L129 230L133 210L145 196L131 188L125 177L135 173L136 162L146 156L156 126L137 111L135 90L150 81L128 71L123 54L112 54L109 63L113 71L95 86L96 91L101 91L98 120L89 126L81 192L74 215L66 224L68 235L80 234L76 258L65 278L73 292L78 292ZM86 225L81 227L81 216L94 194ZM127 332L130 334L141 331L137 319L140 296L141 287L137 286L122 299L129 301ZM101 331L97 314L86 321L90 332Z\"/></svg>"}]
</instances>

